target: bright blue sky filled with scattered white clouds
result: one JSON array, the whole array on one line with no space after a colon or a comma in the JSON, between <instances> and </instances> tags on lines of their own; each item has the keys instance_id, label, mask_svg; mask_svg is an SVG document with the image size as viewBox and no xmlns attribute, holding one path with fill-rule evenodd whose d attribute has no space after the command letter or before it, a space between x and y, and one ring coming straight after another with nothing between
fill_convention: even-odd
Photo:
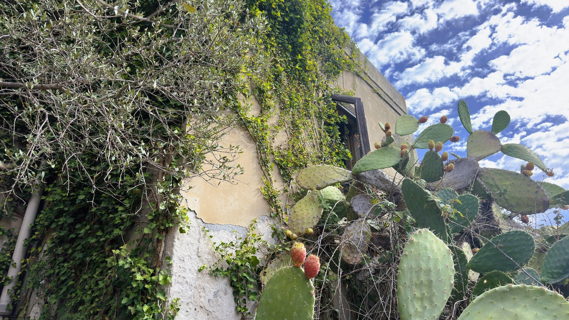
<instances>
[{"instance_id":1,"label":"bright blue sky filled with scattered white clouds","mask_svg":"<svg viewBox=\"0 0 569 320\"><path fill-rule=\"evenodd\" d=\"M569 188L569 0L331 0L336 23L402 93L409 113L447 114L461 137L464 99L473 129L490 130L498 110L512 117L498 134L541 155ZM519 170L498 153L487 167ZM534 170L534 179L544 175ZM566 215L567 216L567 215Z\"/></svg>"}]
</instances>

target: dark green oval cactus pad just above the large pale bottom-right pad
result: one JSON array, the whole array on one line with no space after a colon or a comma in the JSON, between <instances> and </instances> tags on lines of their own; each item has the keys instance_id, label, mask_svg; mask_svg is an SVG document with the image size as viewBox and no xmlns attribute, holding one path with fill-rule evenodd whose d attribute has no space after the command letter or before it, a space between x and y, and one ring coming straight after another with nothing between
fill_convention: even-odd
<instances>
[{"instance_id":1,"label":"dark green oval cactus pad just above the large pale bottom-right pad","mask_svg":"<svg viewBox=\"0 0 569 320\"><path fill-rule=\"evenodd\" d=\"M468 262L468 268L486 273L493 270L513 271L525 265L535 250L533 236L522 230L513 230L489 240Z\"/></svg>"}]
</instances>

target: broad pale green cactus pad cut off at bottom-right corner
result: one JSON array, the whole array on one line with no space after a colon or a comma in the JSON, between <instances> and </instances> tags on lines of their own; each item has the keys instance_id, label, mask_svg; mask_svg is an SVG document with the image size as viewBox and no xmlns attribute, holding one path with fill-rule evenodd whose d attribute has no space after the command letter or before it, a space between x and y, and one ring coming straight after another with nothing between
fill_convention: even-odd
<instances>
[{"instance_id":1,"label":"broad pale green cactus pad cut off at bottom-right corner","mask_svg":"<svg viewBox=\"0 0 569 320\"><path fill-rule=\"evenodd\" d=\"M459 320L567 318L569 302L560 294L538 286L505 285L477 297Z\"/></svg>"}]
</instances>

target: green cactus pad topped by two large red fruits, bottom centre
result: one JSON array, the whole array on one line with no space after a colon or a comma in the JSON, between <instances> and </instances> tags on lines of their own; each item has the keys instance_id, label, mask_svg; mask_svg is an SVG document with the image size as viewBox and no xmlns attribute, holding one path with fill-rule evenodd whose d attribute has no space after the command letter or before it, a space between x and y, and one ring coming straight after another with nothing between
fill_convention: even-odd
<instances>
[{"instance_id":1,"label":"green cactus pad topped by two large red fruits, bottom centre","mask_svg":"<svg viewBox=\"0 0 569 320\"><path fill-rule=\"evenodd\" d=\"M302 268L286 266L267 281L255 320L312 320L315 301L314 285Z\"/></svg>"}]
</instances>

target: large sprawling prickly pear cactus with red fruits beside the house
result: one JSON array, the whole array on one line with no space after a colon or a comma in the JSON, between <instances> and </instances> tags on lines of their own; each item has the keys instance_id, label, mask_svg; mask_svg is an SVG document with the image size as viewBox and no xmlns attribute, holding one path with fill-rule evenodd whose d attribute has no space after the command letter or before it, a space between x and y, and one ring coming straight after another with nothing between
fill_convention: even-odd
<instances>
[{"instance_id":1,"label":"large sprawling prickly pear cactus with red fruits beside the house","mask_svg":"<svg viewBox=\"0 0 569 320\"><path fill-rule=\"evenodd\" d=\"M440 123L422 130L412 142L405 136L414 134L419 124L427 121L426 117L417 120L413 116L401 116L395 121L394 128L389 122L380 122L380 128L386 133L384 140L376 144L376 150L361 158L352 171L316 165L298 174L298 185L310 191L288 215L287 232L310 236L313 229L318 228L323 205L338 207L342 204L343 214L338 216L345 220L336 234L339 250L334 259L341 259L342 264L349 266L366 264L370 260L367 252L374 225L377 227L377 223L371 221L378 221L382 216L377 199L380 195L391 197L389 199L398 201L401 210L413 218L398 268L397 298L401 319L437 319L447 302L462 301L472 302L459 319L508 318L514 317L513 314L521 318L569 317L569 303L539 287L551 287L569 278L569 236L556 241L547 253L540 252L543 248L536 247L534 236L506 228L512 220L504 219L501 213L503 208L512 212L512 216L521 215L522 221L529 220L527 215L569 204L569 191L530 178L534 167L552 174L533 151L513 143L502 145L496 134L508 126L507 112L496 113L492 130L486 131L472 129L468 106L463 100L459 101L458 111L469 133L466 139L468 157L456 156L448 161L447 151L440 154L444 143L460 140L453 136L454 129L446 124L446 116ZM419 162L415 159L414 149L429 150ZM520 167L519 173L479 166L478 161L500 151L527 163ZM400 185L381 171L390 167L403 175ZM352 182L345 197L334 186L339 182ZM364 184L372 188L366 188ZM380 192L374 193L376 191ZM481 207L481 203L485 206ZM482 215L496 219L498 232L473 233L472 230L478 228L476 221ZM312 232L307 232L308 229ZM465 234L471 235L475 247L464 242L461 236ZM318 274L318 257L309 256L305 261L306 249L304 252L303 249L299 244L294 244L291 249L290 263L295 266L279 269L283 264L275 262L274 268L278 270L272 270L273 276L267 281L267 287L273 288L272 279L281 277L281 273L286 273L284 277L289 278L293 273L299 274L299 270L289 269L299 269L296 266L302 264L303 281ZM281 271L283 269L288 271ZM286 288L283 291L290 293L289 285ZM519 294L519 301L528 302L515 303L512 292ZM274 305L271 294L274 293L263 291L259 302L259 310L266 317L275 307L286 309L282 304ZM296 293L289 294L287 299L289 297L301 299ZM539 307L527 307L532 299L540 300ZM541 301L545 302L542 304ZM308 309L314 307L310 299L306 305ZM542 308L542 305L547 307ZM298 312L310 314L306 310ZM271 316L277 318L275 313ZM259 311L257 317L262 319ZM283 319L287 317L290 314Z\"/></svg>"}]
</instances>

